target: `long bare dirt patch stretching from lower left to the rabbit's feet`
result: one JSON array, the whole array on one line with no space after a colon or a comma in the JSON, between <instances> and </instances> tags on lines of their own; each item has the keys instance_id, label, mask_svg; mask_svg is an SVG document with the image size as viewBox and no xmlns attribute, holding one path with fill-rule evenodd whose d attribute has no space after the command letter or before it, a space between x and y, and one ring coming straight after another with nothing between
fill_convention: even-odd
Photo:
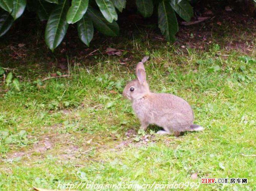
<instances>
[{"instance_id":1,"label":"long bare dirt patch stretching from lower left to the rabbit's feet","mask_svg":"<svg viewBox=\"0 0 256 191\"><path fill-rule=\"evenodd\" d=\"M74 139L75 137L75 139ZM104 162L100 159L101 153L106 151L121 151L128 147L145 147L158 141L170 145L175 137L155 136L154 134L138 134L135 129L128 129L124 136L114 134L88 134L76 132L73 134L51 133L40 136L39 141L30 149L22 148L19 151L7 153L5 162L19 160L40 160L46 156L53 156L59 162L72 161L77 167L83 166L85 161ZM27 149L27 150L26 150Z\"/></svg>"}]
</instances>

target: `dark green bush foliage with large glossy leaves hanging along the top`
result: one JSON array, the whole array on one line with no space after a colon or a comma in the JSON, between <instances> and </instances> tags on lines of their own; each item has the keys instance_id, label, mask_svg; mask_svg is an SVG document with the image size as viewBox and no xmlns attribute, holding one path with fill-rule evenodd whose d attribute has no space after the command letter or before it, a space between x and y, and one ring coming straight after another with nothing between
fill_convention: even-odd
<instances>
[{"instance_id":1,"label":"dark green bush foliage with large glossy leaves hanging along the top","mask_svg":"<svg viewBox=\"0 0 256 191\"><path fill-rule=\"evenodd\" d=\"M254 0L256 1L256 0ZM119 34L118 13L126 0L0 0L0 37L22 16L25 8L35 11L41 21L47 20L45 42L54 50L63 40L69 24L76 23L79 38L89 46L94 27L108 36ZM178 31L175 12L185 21L193 17L193 8L187 0L136 0L139 13L150 17L158 11L158 27L167 41L174 41Z\"/></svg>"}]
</instances>

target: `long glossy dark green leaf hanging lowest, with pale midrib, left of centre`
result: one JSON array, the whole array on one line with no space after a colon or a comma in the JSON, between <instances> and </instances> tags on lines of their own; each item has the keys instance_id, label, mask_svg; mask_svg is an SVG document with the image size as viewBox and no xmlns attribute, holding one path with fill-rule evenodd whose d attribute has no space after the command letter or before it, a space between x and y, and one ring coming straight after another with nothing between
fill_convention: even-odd
<instances>
[{"instance_id":1,"label":"long glossy dark green leaf hanging lowest, with pale midrib, left of centre","mask_svg":"<svg viewBox=\"0 0 256 191\"><path fill-rule=\"evenodd\" d=\"M50 50L54 50L65 37L68 29L66 14L69 8L68 0L60 0L54 7L45 28L45 42Z\"/></svg>"}]
</instances>

